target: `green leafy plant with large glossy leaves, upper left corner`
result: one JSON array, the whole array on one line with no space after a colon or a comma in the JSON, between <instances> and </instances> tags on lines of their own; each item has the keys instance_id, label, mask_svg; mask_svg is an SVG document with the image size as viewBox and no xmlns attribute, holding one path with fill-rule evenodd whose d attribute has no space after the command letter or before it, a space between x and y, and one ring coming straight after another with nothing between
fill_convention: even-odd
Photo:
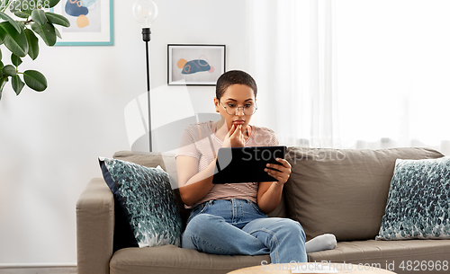
<instances>
[{"instance_id":1,"label":"green leafy plant with large glossy leaves, upper left corner","mask_svg":"<svg viewBox=\"0 0 450 274\"><path fill-rule=\"evenodd\" d=\"M63 15L45 11L58 2L59 0L0 0L0 99L4 85L10 81L17 95L25 85L36 92L47 88L47 79L39 71L28 69L21 72L19 66L23 57L29 56L32 60L38 57L39 37L47 46L55 45L57 37L61 38L55 24L70 26ZM2 56L10 53L11 64L5 65L1 61Z\"/></svg>"}]
</instances>

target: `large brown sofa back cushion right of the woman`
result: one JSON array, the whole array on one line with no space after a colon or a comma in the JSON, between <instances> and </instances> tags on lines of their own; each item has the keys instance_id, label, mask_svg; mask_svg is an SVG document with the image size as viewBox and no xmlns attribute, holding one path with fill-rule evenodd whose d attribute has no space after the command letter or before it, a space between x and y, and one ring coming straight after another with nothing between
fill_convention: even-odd
<instances>
[{"instance_id":1,"label":"large brown sofa back cushion right of the woman","mask_svg":"<svg viewBox=\"0 0 450 274\"><path fill-rule=\"evenodd\" d=\"M307 240L335 234L338 242L374 239L380 229L395 160L438 158L428 148L381 150L289 147L284 195L288 217Z\"/></svg>"}]
</instances>

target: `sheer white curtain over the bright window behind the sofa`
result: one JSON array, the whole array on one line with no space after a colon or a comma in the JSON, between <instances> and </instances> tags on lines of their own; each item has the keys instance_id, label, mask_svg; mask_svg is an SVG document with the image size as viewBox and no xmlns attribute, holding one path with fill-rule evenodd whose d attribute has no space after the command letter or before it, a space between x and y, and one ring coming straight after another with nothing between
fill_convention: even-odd
<instances>
[{"instance_id":1,"label":"sheer white curtain over the bright window behind the sofa","mask_svg":"<svg viewBox=\"0 0 450 274\"><path fill-rule=\"evenodd\" d=\"M249 2L257 124L290 146L450 155L450 1Z\"/></svg>"}]
</instances>

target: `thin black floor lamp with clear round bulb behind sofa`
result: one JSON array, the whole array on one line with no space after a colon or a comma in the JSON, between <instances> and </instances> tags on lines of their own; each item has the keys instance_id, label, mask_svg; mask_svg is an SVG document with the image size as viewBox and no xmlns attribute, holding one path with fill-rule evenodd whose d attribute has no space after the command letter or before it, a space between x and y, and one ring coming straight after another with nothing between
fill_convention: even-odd
<instances>
[{"instance_id":1,"label":"thin black floor lamp with clear round bulb behind sofa","mask_svg":"<svg viewBox=\"0 0 450 274\"><path fill-rule=\"evenodd\" d=\"M150 40L150 25L157 18L157 4L151 0L138 0L132 6L132 12L136 21L142 26L142 40L145 42L147 59L147 93L148 93L148 148L151 147L151 110L150 110L150 66L148 61L148 41Z\"/></svg>"}]
</instances>

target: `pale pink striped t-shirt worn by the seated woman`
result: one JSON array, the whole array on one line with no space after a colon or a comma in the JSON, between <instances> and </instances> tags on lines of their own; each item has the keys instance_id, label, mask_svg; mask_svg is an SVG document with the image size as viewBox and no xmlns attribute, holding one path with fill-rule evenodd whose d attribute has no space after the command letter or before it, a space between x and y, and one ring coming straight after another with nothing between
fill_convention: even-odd
<instances>
[{"instance_id":1,"label":"pale pink striped t-shirt worn by the seated woman","mask_svg":"<svg viewBox=\"0 0 450 274\"><path fill-rule=\"evenodd\" d=\"M198 172L205 169L214 160L223 142L215 135L217 122L208 121L191 124L184 129L180 146L175 157L191 156L198 159ZM278 146L275 132L269 128L250 126L249 137L245 146ZM257 202L257 182L215 184L201 200L192 206L194 208L211 199L249 199Z\"/></svg>"}]
</instances>

